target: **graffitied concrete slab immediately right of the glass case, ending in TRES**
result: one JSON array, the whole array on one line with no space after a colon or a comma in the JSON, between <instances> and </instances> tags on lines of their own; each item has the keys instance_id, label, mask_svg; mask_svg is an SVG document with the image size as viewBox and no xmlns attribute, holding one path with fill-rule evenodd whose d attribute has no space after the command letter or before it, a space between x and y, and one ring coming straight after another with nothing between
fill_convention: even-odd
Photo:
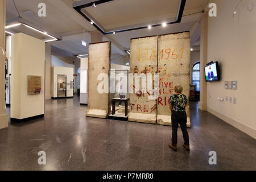
<instances>
[{"instance_id":1,"label":"graffitied concrete slab immediately right of the glass case, ending in TRES","mask_svg":"<svg viewBox=\"0 0 256 182\"><path fill-rule=\"evenodd\" d=\"M133 78L129 78L129 87L132 89L129 121L156 123L156 98L150 96L154 96L157 52L158 36L130 40L130 73ZM151 79L148 80L150 75ZM150 88L147 85L151 85Z\"/></svg>"}]
</instances>

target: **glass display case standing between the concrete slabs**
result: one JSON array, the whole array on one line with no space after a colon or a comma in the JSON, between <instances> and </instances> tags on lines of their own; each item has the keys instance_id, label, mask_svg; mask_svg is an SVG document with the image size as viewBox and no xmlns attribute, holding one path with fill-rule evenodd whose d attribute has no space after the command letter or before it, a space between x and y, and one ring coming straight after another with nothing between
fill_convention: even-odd
<instances>
[{"instance_id":1,"label":"glass display case standing between the concrete slabs","mask_svg":"<svg viewBox=\"0 0 256 182\"><path fill-rule=\"evenodd\" d=\"M109 71L109 111L110 119L128 119L129 112L129 70Z\"/></svg>"}]
</instances>

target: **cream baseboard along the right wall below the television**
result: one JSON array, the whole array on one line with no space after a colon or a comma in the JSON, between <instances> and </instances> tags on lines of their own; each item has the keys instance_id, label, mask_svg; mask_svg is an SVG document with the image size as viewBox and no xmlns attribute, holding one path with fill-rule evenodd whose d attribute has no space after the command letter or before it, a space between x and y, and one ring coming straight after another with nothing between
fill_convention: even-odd
<instances>
[{"instance_id":1,"label":"cream baseboard along the right wall below the television","mask_svg":"<svg viewBox=\"0 0 256 182\"><path fill-rule=\"evenodd\" d=\"M235 119L232 119L224 114L221 114L216 110L210 109L209 107L207 108L207 111L222 119L226 123L229 123L229 125L236 127L238 130L241 130L243 133L246 133L247 135L250 135L251 137L256 139L256 130L252 129L251 127L244 125L243 123L236 121Z\"/></svg>"}]
</instances>

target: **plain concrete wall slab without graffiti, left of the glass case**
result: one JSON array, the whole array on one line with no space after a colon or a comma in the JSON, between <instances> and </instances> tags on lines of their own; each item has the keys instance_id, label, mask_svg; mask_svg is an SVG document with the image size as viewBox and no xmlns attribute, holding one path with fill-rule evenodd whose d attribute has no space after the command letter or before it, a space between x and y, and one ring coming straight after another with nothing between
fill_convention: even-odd
<instances>
[{"instance_id":1,"label":"plain concrete wall slab without graffiti, left of the glass case","mask_svg":"<svg viewBox=\"0 0 256 182\"><path fill-rule=\"evenodd\" d=\"M86 116L89 117L108 117L110 46L110 42L89 44L88 109L86 111Z\"/></svg>"}]
</instances>

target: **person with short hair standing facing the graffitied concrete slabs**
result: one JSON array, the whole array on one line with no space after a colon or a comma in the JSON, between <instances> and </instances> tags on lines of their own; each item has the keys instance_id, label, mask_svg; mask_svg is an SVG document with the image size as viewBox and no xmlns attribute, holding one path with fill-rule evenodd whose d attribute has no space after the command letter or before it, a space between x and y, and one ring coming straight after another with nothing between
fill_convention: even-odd
<instances>
[{"instance_id":1,"label":"person with short hair standing facing the graffitied concrete slabs","mask_svg":"<svg viewBox=\"0 0 256 182\"><path fill-rule=\"evenodd\" d=\"M172 148L172 150L177 151L177 129L180 124L184 139L184 143L182 145L187 151L189 151L190 149L187 131L187 114L185 111L188 100L187 96L181 93L183 91L182 86L175 85L174 91L175 94L171 95L169 101L169 107L172 113L172 143L169 143L168 145L170 148Z\"/></svg>"}]
</instances>

